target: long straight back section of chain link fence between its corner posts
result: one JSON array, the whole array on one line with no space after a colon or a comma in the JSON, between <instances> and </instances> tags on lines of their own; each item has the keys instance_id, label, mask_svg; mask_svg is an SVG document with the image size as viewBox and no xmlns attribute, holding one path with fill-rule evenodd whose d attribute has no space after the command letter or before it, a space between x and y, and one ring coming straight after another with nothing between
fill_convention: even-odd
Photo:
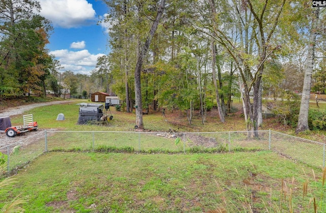
<instances>
[{"instance_id":1,"label":"long straight back section of chain link fence between its corner posts","mask_svg":"<svg viewBox=\"0 0 326 213\"><path fill-rule=\"evenodd\" d=\"M268 149L269 131L211 133L46 131L47 151L218 153Z\"/></svg>"}]
</instances>

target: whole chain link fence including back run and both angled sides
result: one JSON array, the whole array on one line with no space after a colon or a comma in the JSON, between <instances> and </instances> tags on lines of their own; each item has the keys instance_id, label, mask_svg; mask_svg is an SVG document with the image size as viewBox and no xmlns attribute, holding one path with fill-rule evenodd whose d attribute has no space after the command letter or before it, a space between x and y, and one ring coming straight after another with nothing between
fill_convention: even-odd
<instances>
[{"instance_id":1,"label":"whole chain link fence including back run and both angled sides","mask_svg":"<svg viewBox=\"0 0 326 213\"><path fill-rule=\"evenodd\" d=\"M206 133L44 131L0 147L0 163L8 171L21 168L47 151L104 153L225 153L271 150L287 158L323 168L325 144L275 131Z\"/></svg>"}]
</instances>

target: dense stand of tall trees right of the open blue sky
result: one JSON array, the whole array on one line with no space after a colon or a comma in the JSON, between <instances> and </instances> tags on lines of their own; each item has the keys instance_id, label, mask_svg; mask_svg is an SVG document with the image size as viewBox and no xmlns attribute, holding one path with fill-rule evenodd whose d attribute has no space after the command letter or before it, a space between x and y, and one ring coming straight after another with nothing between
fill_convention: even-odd
<instances>
[{"instance_id":1,"label":"dense stand of tall trees right of the open blue sky","mask_svg":"<svg viewBox=\"0 0 326 213\"><path fill-rule=\"evenodd\" d=\"M107 57L111 72L120 76L115 87L127 111L133 104L137 117L150 105L185 110L191 124L198 108L204 124L214 102L224 122L231 96L237 95L247 129L255 131L262 124L265 93L275 98L290 93L302 95L297 132L308 129L310 92L325 92L324 9L304 0L168 1L139 78L139 57L163 1L104 2L111 25Z\"/></svg>"}]
</instances>

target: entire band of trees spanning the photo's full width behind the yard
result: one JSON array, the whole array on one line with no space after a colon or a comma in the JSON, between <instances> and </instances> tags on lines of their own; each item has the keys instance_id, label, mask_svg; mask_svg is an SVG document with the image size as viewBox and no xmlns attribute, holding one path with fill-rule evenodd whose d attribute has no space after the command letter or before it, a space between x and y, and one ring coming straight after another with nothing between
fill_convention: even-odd
<instances>
[{"instance_id":1,"label":"entire band of trees spanning the photo's full width behind the yard","mask_svg":"<svg viewBox=\"0 0 326 213\"><path fill-rule=\"evenodd\" d=\"M27 2L39 8L37 1ZM0 95L27 89L44 94L45 88L60 93L58 81L71 94L101 90L124 100L127 112L135 109L140 129L144 110L158 108L185 111L189 124L199 109L204 124L207 111L216 106L224 122L233 97L242 100L253 134L262 124L264 98L301 96L297 132L308 129L310 93L324 94L326 86L324 9L308 0L103 2L110 14L104 21L110 23L111 52L98 58L90 75L58 73L59 63L44 49L51 30L46 19L0 17L8 25L2 34ZM28 45L34 46L29 54L20 42L29 38L27 32L38 38L31 42L39 41Z\"/></svg>"}]
</instances>

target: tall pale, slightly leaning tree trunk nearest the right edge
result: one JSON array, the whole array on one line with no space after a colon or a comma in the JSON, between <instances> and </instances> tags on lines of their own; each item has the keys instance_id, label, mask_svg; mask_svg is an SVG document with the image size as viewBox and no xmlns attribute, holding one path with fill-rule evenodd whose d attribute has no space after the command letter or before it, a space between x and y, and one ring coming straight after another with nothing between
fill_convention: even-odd
<instances>
[{"instance_id":1,"label":"tall pale, slightly leaning tree trunk nearest the right edge","mask_svg":"<svg viewBox=\"0 0 326 213\"><path fill-rule=\"evenodd\" d=\"M295 133L300 133L306 130L309 130L308 126L308 111L309 111L309 100L310 100L310 89L311 89L311 76L314 68L314 58L315 58L315 46L316 46L316 37L317 37L317 26L319 18L319 8L316 8L314 11L314 17L311 21L311 29L309 35L309 45L308 45L308 57L307 64L305 68L305 78L304 86L302 89L302 97L300 104L300 112L297 120L297 126Z\"/></svg>"}]
</instances>

